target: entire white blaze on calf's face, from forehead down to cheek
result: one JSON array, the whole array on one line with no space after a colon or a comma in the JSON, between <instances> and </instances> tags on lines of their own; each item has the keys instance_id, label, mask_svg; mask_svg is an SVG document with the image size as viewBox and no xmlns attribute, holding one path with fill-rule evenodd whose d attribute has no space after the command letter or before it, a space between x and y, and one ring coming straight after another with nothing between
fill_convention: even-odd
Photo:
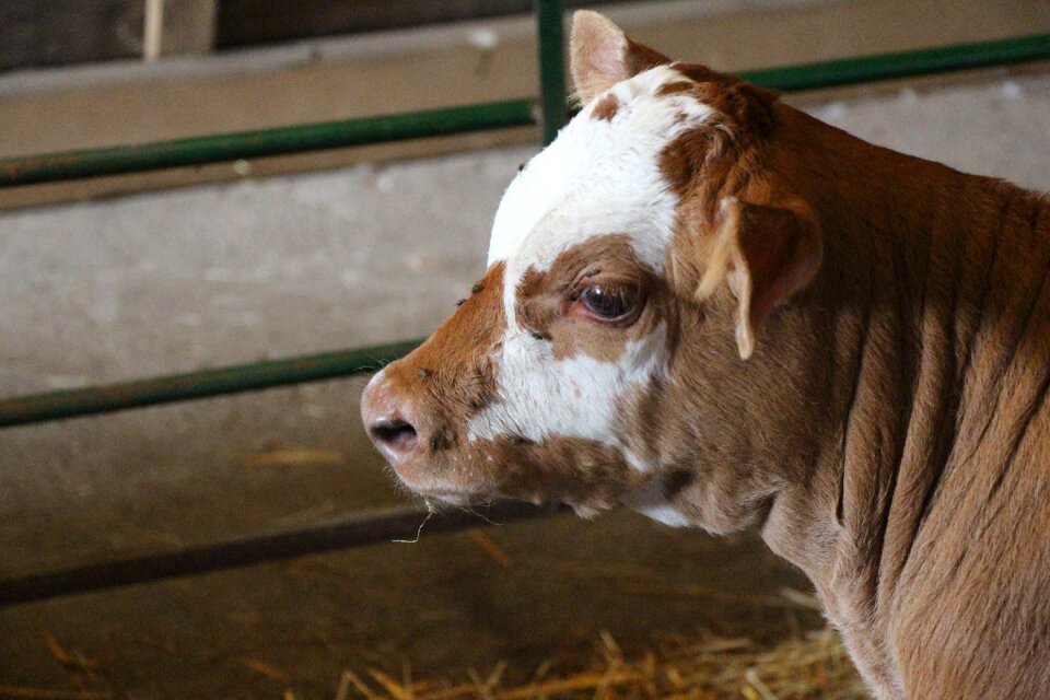
<instances>
[{"instance_id":1,"label":"entire white blaze on calf's face, from forehead down to cheek","mask_svg":"<svg viewBox=\"0 0 1050 700\"><path fill-rule=\"evenodd\" d=\"M517 324L515 294L526 270L545 271L567 249L600 235L626 235L639 261L663 272L678 198L661 173L661 153L714 114L688 93L656 94L665 84L686 80L661 66L617 83L584 107L508 188L489 247L489 265L506 264L508 331L499 357L498 397L471 418L471 440L584 438L620 447L639 469L655 466L623 448L616 410L618 398L665 370L664 325L628 343L616 362L586 354L557 360L550 342ZM610 93L619 101L616 114L595 118L595 105Z\"/></svg>"}]
</instances>

